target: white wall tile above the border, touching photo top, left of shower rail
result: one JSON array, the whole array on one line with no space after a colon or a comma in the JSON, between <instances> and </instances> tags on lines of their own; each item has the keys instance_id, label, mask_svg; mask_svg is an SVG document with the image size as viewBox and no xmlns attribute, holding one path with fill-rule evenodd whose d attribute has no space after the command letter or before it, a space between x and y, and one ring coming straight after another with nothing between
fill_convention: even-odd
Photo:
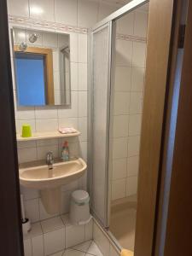
<instances>
[{"instance_id":1,"label":"white wall tile above the border, touching photo top, left of shower rail","mask_svg":"<svg viewBox=\"0 0 192 256\"><path fill-rule=\"evenodd\" d=\"M91 27L96 24L98 1L78 0L78 26Z\"/></svg>"}]
</instances>

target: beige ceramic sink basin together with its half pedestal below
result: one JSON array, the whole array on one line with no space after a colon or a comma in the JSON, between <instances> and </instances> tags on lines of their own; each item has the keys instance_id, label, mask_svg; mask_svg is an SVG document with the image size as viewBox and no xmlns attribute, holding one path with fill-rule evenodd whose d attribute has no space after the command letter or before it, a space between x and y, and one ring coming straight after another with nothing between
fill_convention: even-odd
<instances>
[{"instance_id":1,"label":"beige ceramic sink basin together with its half pedestal below","mask_svg":"<svg viewBox=\"0 0 192 256\"><path fill-rule=\"evenodd\" d=\"M83 159L56 163L48 166L20 168L20 184L26 188L39 189L46 212L61 211L61 185L81 177L87 168Z\"/></svg>"}]
</instances>

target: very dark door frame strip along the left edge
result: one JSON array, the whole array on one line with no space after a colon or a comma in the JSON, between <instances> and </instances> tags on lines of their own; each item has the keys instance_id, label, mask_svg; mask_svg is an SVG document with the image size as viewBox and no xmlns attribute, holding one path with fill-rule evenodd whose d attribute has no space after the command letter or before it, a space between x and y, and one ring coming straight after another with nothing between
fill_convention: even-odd
<instances>
[{"instance_id":1,"label":"very dark door frame strip along the left edge","mask_svg":"<svg viewBox=\"0 0 192 256\"><path fill-rule=\"evenodd\" d=\"M24 256L7 1L0 1L0 255Z\"/></svg>"}]
</instances>

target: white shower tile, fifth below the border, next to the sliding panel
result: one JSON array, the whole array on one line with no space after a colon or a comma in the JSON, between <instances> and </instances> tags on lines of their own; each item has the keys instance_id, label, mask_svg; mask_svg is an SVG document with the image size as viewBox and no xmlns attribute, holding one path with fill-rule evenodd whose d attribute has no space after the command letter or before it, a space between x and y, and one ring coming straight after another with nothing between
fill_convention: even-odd
<instances>
[{"instance_id":1,"label":"white shower tile, fifth below the border, next to the sliding panel","mask_svg":"<svg viewBox=\"0 0 192 256\"><path fill-rule=\"evenodd\" d=\"M113 159L125 158L127 156L127 138L119 137L113 139Z\"/></svg>"}]
</instances>

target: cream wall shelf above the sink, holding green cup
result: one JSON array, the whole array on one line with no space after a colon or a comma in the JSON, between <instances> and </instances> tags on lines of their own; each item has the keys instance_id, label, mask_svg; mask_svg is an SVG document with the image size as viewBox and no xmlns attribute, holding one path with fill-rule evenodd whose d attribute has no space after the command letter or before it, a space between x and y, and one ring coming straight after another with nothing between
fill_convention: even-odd
<instances>
[{"instance_id":1,"label":"cream wall shelf above the sink, holding green cup","mask_svg":"<svg viewBox=\"0 0 192 256\"><path fill-rule=\"evenodd\" d=\"M59 131L47 131L47 132L33 132L32 137L21 137L20 134L17 134L18 142L27 142L27 141L35 141L35 140L44 140L50 138L59 138L59 137L77 137L81 133L79 131L74 133L62 134Z\"/></svg>"}]
</instances>

